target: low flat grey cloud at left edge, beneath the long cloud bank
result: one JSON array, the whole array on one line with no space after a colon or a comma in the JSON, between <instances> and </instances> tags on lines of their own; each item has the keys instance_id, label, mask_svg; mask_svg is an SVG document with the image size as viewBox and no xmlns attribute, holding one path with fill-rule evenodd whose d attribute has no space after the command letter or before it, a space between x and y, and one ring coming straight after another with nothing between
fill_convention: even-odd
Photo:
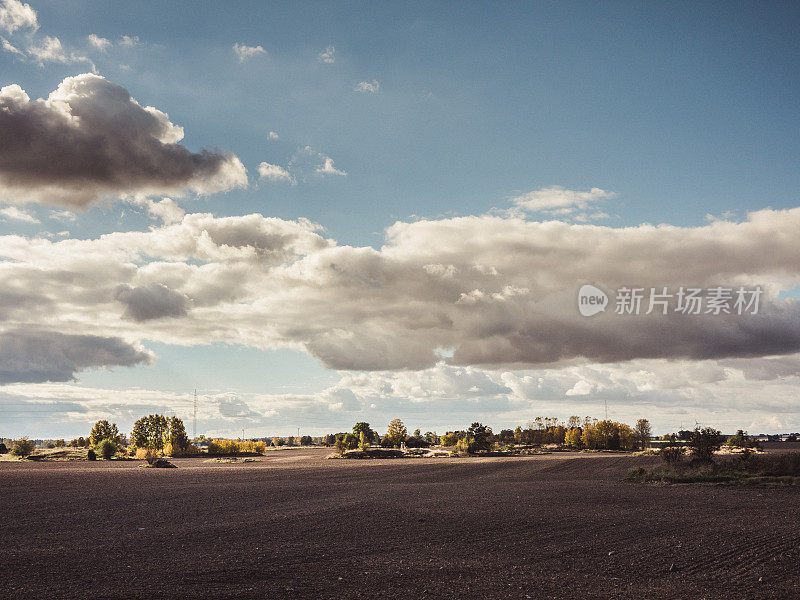
<instances>
[{"instance_id":1,"label":"low flat grey cloud at left edge, beneath the long cloud bank","mask_svg":"<svg viewBox=\"0 0 800 600\"><path fill-rule=\"evenodd\" d=\"M70 381L92 367L148 364L152 355L118 337L55 331L0 333L0 384Z\"/></svg>"}]
</instances>

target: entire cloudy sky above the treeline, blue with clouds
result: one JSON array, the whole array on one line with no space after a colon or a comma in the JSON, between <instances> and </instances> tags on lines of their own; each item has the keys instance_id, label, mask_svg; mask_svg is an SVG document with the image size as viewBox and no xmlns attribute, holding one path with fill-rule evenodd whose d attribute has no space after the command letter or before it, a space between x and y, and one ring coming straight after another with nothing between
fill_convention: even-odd
<instances>
[{"instance_id":1,"label":"entire cloudy sky above the treeline, blue with clouds","mask_svg":"<svg viewBox=\"0 0 800 600\"><path fill-rule=\"evenodd\" d=\"M798 25L0 0L0 436L800 430Z\"/></svg>"}]
</instances>

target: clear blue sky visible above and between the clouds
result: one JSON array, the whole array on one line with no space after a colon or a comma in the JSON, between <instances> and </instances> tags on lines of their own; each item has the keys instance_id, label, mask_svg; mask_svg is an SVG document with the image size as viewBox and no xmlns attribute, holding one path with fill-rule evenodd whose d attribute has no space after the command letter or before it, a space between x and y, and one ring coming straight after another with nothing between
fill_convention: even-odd
<instances>
[{"instance_id":1,"label":"clear blue sky visible above and between the clouds","mask_svg":"<svg viewBox=\"0 0 800 600\"><path fill-rule=\"evenodd\" d=\"M592 222L610 229L665 223L689 231L708 226L708 215L742 223L750 211L798 205L800 9L793 3L41 0L30 8L38 29L23 26L3 34L18 53L0 53L0 87L18 84L31 100L46 98L65 78L91 72L93 65L141 106L155 107L183 127L180 144L191 152L216 148L240 159L247 185L174 195L187 213L309 219L324 228L319 235L339 246L380 250L387 243L386 228L396 221L503 217L515 207L514 198L552 186L608 192ZM107 40L107 47L93 45L90 35ZM59 39L64 60L37 61L26 49L44 36ZM127 44L121 43L123 36ZM240 60L234 44L263 51ZM326 51L327 61L320 56ZM367 91L357 91L361 82ZM327 158L340 173L315 172ZM294 182L259 178L261 163L288 169ZM156 196L167 195L173 196ZM92 240L157 227L146 205L108 195L85 209L67 207L73 216L60 220L51 211L64 210L63 205L16 202L11 196L5 201L40 222L6 218L0 221L3 235L58 239L68 230L71 240ZM555 216L562 217L576 223ZM758 235L763 239L763 231ZM193 260L185 264L197 264ZM639 266L647 271L646 264ZM714 265L708 272L724 273ZM772 275L748 276L766 281ZM788 285L794 275L781 272L776 285ZM181 293L198 301L186 289ZM329 299L338 301L333 291ZM64 323L70 315L64 313ZM338 325L332 323L331 331L352 333L349 324ZM57 329L105 335L95 325ZM97 402L107 393L98 390L142 387L165 394L198 387L241 397L287 390L314 395L330 386L343 389L343 376L362 371L355 363L352 369L336 368L351 363L314 350L313 340L290 340L285 333L263 344L235 336L202 340L153 331L137 336L133 329L121 335L141 342L157 361L78 370L77 381L59 385L94 390L82 393ZM380 370L386 377L417 372L412 363L388 361ZM496 383L503 369L553 364L461 366L487 368ZM35 401L56 393L31 388L27 397ZM388 413L381 405L359 393L359 410L374 410L375 419L384 419ZM564 399L563 390L553 393ZM453 394L450 400L469 406L466 396ZM581 398L600 405L601 396ZM261 415L253 417L254 431L288 433L273 431L284 421L268 416L270 402L288 400L251 400ZM550 396L539 400L531 411L568 410ZM625 403L630 408L640 400L626 397ZM469 418L510 425L527 410L522 404L509 409L508 394L491 402L497 406L476 405L467 411ZM372 405L377 408L369 409ZM425 426L464 425L448 420L451 408L426 406L430 411L417 417ZM768 428L772 413L763 407L753 411L760 416L743 418ZM357 416L320 414L312 420L330 417L331 429ZM800 427L796 410L782 414L773 428ZM84 427L82 417L73 417L75 425L65 435ZM209 417L208 426L219 433L237 431L220 419L212 425ZM664 416L658 424L667 429L676 420ZM58 433L52 423L24 418L10 427L15 434L26 428Z\"/></svg>"}]
</instances>

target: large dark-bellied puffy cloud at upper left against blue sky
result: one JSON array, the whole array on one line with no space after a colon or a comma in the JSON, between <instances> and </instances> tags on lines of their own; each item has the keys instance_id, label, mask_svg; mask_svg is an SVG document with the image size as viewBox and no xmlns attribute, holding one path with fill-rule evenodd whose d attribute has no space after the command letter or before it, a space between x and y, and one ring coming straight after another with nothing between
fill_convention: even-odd
<instances>
[{"instance_id":1,"label":"large dark-bellied puffy cloud at upper left against blue sky","mask_svg":"<svg viewBox=\"0 0 800 600\"><path fill-rule=\"evenodd\" d=\"M67 77L47 99L0 89L0 199L83 208L129 195L244 186L233 154L192 153L166 113L103 77Z\"/></svg>"}]
</instances>

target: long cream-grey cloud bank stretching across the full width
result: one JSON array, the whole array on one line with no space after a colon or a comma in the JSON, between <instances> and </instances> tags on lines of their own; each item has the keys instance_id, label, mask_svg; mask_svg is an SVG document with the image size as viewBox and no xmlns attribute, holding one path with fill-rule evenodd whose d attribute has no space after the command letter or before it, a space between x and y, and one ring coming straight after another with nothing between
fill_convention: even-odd
<instances>
[{"instance_id":1,"label":"long cream-grey cloud bank stretching across the full width","mask_svg":"<svg viewBox=\"0 0 800 600\"><path fill-rule=\"evenodd\" d=\"M800 352L800 302L778 291L800 280L799 228L800 208L702 227L483 215L396 223L376 249L338 245L302 220L189 214L94 240L5 236L0 289L27 307L9 305L0 328L303 348L344 370L426 369L442 357L544 369L786 356ZM586 318L585 282L609 292L761 285L765 295L757 315ZM158 309L121 318L136 293Z\"/></svg>"}]
</instances>

